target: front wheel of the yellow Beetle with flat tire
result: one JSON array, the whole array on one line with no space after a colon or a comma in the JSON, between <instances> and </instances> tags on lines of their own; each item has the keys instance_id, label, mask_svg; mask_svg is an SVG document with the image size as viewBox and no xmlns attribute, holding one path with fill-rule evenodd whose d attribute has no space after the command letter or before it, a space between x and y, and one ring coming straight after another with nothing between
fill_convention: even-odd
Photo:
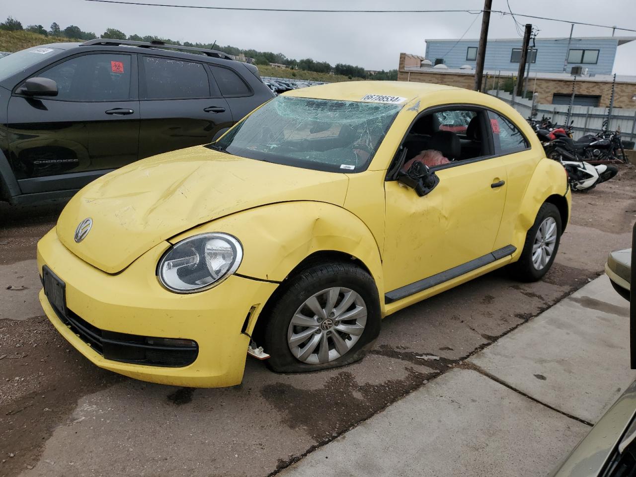
<instances>
[{"instance_id":1,"label":"front wheel of the yellow Beetle with flat tire","mask_svg":"<svg viewBox=\"0 0 636 477\"><path fill-rule=\"evenodd\" d=\"M265 328L267 364L279 373L362 359L380 333L375 281L350 263L314 265L284 285Z\"/></svg>"}]
</instances>

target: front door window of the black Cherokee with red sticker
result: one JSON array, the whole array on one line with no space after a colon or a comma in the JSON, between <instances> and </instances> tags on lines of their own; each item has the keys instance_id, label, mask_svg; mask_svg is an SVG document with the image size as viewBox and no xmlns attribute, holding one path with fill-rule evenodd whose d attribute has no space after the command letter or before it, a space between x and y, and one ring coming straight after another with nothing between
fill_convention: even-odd
<instances>
[{"instance_id":1,"label":"front door window of the black Cherokee with red sticker","mask_svg":"<svg viewBox=\"0 0 636 477\"><path fill-rule=\"evenodd\" d=\"M53 100L118 101L130 99L130 55L82 55L66 60L39 78L57 83Z\"/></svg>"}]
</instances>

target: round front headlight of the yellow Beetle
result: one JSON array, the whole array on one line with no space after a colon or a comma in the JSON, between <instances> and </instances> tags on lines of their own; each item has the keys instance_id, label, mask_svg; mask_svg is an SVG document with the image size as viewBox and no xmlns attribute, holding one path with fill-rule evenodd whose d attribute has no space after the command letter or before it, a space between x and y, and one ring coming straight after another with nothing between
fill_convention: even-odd
<instances>
[{"instance_id":1,"label":"round front headlight of the yellow Beetle","mask_svg":"<svg viewBox=\"0 0 636 477\"><path fill-rule=\"evenodd\" d=\"M227 233L202 233L173 245L159 261L161 284L175 293L204 291L236 272L243 248Z\"/></svg>"}]
</instances>

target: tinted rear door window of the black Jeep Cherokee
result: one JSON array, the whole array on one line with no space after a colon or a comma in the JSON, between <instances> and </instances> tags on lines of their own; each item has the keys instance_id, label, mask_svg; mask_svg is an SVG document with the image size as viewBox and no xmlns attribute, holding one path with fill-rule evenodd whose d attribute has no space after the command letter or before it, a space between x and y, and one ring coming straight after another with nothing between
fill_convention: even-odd
<instances>
[{"instance_id":1,"label":"tinted rear door window of the black Jeep Cherokee","mask_svg":"<svg viewBox=\"0 0 636 477\"><path fill-rule=\"evenodd\" d=\"M145 99L210 97L210 84L200 63L144 57L142 95Z\"/></svg>"}]
</instances>

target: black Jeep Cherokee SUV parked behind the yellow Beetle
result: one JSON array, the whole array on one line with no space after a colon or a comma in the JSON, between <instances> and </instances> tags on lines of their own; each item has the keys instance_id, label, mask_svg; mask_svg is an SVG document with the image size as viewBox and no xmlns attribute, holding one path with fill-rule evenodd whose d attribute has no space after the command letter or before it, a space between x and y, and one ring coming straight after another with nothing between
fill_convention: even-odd
<instances>
[{"instance_id":1,"label":"black Jeep Cherokee SUV parked behind the yellow Beetle","mask_svg":"<svg viewBox=\"0 0 636 477\"><path fill-rule=\"evenodd\" d=\"M250 64L160 41L0 58L0 200L69 197L111 170L211 142L273 93Z\"/></svg>"}]
</instances>

